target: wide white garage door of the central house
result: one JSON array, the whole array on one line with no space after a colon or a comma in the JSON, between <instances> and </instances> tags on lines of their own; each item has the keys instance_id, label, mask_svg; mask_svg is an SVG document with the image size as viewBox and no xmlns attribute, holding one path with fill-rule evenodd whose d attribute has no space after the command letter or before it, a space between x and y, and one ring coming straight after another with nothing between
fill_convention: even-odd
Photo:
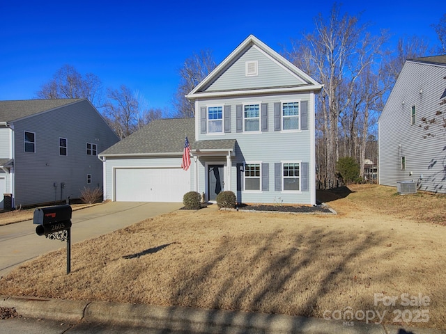
<instances>
[{"instance_id":1,"label":"wide white garage door of the central house","mask_svg":"<svg viewBox=\"0 0 446 334\"><path fill-rule=\"evenodd\" d=\"M183 202L190 191L190 170L182 168L117 168L115 200Z\"/></svg>"}]
</instances>

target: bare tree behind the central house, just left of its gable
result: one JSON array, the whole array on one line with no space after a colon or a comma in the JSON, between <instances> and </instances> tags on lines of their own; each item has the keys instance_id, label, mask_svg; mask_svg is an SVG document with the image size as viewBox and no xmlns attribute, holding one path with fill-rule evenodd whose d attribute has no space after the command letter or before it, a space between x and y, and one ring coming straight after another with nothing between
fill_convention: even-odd
<instances>
[{"instance_id":1,"label":"bare tree behind the central house, just left of its gable","mask_svg":"<svg viewBox=\"0 0 446 334\"><path fill-rule=\"evenodd\" d=\"M174 95L177 117L194 117L194 104L187 100L185 95L197 87L201 80L215 67L216 64L210 50L201 50L198 54L194 53L184 61L183 67L178 71L180 83Z\"/></svg>"}]
</instances>

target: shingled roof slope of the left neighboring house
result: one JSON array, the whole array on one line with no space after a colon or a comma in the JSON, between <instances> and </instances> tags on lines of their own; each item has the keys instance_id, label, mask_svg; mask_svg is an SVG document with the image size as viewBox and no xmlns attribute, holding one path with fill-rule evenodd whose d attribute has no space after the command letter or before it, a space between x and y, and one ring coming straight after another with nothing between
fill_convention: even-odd
<instances>
[{"instance_id":1,"label":"shingled roof slope of the left neighboring house","mask_svg":"<svg viewBox=\"0 0 446 334\"><path fill-rule=\"evenodd\" d=\"M81 100L86 99L0 101L0 122L13 122Z\"/></svg>"}]
</instances>

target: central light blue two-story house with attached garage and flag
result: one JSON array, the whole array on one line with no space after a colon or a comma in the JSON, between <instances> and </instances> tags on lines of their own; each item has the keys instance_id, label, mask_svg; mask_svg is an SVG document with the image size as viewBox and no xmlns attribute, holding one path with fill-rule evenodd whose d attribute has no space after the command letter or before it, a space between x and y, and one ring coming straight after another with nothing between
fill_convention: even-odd
<instances>
[{"instance_id":1,"label":"central light blue two-story house with attached garage and flag","mask_svg":"<svg viewBox=\"0 0 446 334\"><path fill-rule=\"evenodd\" d=\"M156 120L100 153L105 198L316 203L314 95L321 84L253 35L187 95L196 116ZM180 168L185 136L192 165Z\"/></svg>"}]
</instances>

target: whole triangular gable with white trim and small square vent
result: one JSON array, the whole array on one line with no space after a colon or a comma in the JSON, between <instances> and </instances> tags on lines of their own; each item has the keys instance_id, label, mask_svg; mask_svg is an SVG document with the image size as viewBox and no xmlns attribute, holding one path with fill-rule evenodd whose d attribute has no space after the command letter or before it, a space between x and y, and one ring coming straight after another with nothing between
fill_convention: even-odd
<instances>
[{"instance_id":1,"label":"whole triangular gable with white trim and small square vent","mask_svg":"<svg viewBox=\"0 0 446 334\"><path fill-rule=\"evenodd\" d=\"M254 35L249 35L213 72L187 95L224 97L320 90L321 84L277 54Z\"/></svg>"}]
</instances>

